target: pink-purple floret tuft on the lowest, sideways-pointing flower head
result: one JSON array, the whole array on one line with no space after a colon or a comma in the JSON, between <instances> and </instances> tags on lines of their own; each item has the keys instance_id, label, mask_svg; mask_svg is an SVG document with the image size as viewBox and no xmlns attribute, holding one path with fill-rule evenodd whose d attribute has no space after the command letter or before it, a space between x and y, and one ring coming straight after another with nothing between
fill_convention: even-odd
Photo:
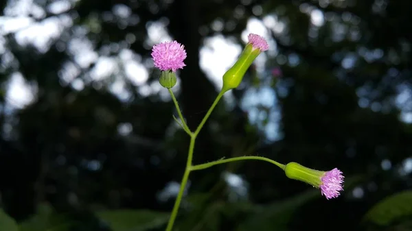
<instances>
[{"instance_id":1,"label":"pink-purple floret tuft on the lowest, sideways-pointing flower head","mask_svg":"<svg viewBox=\"0 0 412 231\"><path fill-rule=\"evenodd\" d=\"M322 195L324 195L326 199L339 197L339 195L341 195L339 191L343 191L343 178L345 177L339 169L334 168L325 172L321 178L322 184L319 186Z\"/></svg>"}]
</instances>

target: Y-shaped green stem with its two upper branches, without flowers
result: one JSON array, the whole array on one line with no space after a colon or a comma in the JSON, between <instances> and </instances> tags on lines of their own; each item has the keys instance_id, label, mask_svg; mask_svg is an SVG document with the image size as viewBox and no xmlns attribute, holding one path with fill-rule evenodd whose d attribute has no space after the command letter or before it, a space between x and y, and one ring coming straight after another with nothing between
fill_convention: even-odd
<instances>
[{"instance_id":1,"label":"Y-shaped green stem with its two upper branches, without flowers","mask_svg":"<svg viewBox=\"0 0 412 231\"><path fill-rule=\"evenodd\" d=\"M187 154L187 162L186 162L186 168L185 168L185 173L183 173L183 178L181 181L181 187L179 189L179 194L176 197L176 202L174 202L173 210L172 210L172 215L170 215L170 219L168 222L168 226L166 227L166 231L172 231L173 225L174 225L174 220L176 219L177 212L179 211L179 207L182 201L183 193L185 192L187 180L189 179L190 171L192 170L192 159L193 159L193 151L194 151L194 143L196 142L196 137L198 136L199 132L201 132L203 125L205 125L207 119L209 119L211 112L213 112L214 108L218 104L218 101L220 98L222 98L223 94L225 94L225 91L220 91L219 95L216 97L215 101L213 104L211 104L211 107L205 114L205 117L203 117L203 120L201 123L198 125L196 128L195 132L190 132L189 128L185 124L185 121L183 119L183 115L181 114L181 110L179 108L179 104L177 104L176 98L173 95L172 90L169 89L170 95L172 95L172 99L174 101L174 106L176 106L177 112L179 113L179 117L181 117L182 123L183 123L183 129L190 134L190 145L189 145L189 152Z\"/></svg>"}]
</instances>

